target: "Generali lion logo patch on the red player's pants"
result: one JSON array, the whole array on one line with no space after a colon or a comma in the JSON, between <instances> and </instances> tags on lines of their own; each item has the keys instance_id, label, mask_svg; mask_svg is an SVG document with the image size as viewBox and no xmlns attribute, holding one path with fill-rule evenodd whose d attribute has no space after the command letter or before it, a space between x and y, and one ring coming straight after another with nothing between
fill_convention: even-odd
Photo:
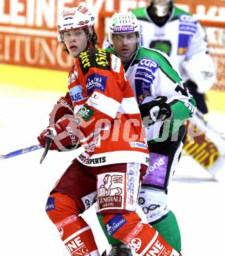
<instances>
[{"instance_id":1,"label":"Generali lion logo patch on the red player's pants","mask_svg":"<svg viewBox=\"0 0 225 256\"><path fill-rule=\"evenodd\" d=\"M103 173L98 175L99 211L124 209L125 173Z\"/></svg>"}]
</instances>

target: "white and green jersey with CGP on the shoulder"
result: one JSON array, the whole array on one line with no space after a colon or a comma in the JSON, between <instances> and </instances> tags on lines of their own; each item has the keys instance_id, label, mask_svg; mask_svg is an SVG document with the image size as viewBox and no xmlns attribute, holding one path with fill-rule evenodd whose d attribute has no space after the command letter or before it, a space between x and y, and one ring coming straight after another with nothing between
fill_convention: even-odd
<instances>
[{"instance_id":1,"label":"white and green jersey with CGP on the shoulder","mask_svg":"<svg viewBox=\"0 0 225 256\"><path fill-rule=\"evenodd\" d=\"M106 51L115 54L111 48ZM167 54L140 47L126 70L138 105L151 102L157 96L167 96L173 112L173 119L158 121L148 127L148 141L154 142L158 138L157 141L164 141L178 131L185 119L194 116L195 100Z\"/></svg>"}]
</instances>

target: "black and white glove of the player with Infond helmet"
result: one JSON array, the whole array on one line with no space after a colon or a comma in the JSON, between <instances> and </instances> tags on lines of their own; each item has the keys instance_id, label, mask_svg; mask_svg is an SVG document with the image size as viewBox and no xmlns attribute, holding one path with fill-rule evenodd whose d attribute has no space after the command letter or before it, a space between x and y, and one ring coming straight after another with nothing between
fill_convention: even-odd
<instances>
[{"instance_id":1,"label":"black and white glove of the player with Infond helmet","mask_svg":"<svg viewBox=\"0 0 225 256\"><path fill-rule=\"evenodd\" d=\"M140 105L139 109L142 119L148 116L155 123L156 121L163 121L165 119L171 118L171 107L166 102L166 96L157 96L155 100Z\"/></svg>"}]
</instances>

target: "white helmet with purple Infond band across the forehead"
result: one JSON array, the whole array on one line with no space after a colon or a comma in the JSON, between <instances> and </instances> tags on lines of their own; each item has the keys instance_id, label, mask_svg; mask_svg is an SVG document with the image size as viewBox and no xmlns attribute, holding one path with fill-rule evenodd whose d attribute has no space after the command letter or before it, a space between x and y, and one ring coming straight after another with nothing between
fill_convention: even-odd
<instances>
[{"instance_id":1,"label":"white helmet with purple Infond band across the forehead","mask_svg":"<svg viewBox=\"0 0 225 256\"><path fill-rule=\"evenodd\" d=\"M141 28L136 16L132 12L115 12L108 26L108 40L113 45L114 33L131 33L136 32L138 37L138 46L141 41Z\"/></svg>"}]
</instances>

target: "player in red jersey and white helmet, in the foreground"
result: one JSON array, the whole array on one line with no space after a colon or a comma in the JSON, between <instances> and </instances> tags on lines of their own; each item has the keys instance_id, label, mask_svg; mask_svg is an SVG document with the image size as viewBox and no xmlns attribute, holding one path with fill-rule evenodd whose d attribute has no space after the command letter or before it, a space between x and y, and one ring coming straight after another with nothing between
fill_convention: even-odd
<instances>
[{"instance_id":1,"label":"player in red jersey and white helmet, in the foreground","mask_svg":"<svg viewBox=\"0 0 225 256\"><path fill-rule=\"evenodd\" d=\"M133 91L119 58L95 49L94 16L83 6L67 9L58 20L58 41L74 59L69 93L60 98L50 126L38 140L51 150L80 143L85 152L58 180L46 211L70 255L99 255L90 226L79 216L94 200L111 236L136 253L180 255L135 213L148 146ZM60 108L62 106L62 108ZM66 114L66 115L65 115Z\"/></svg>"}]
</instances>

